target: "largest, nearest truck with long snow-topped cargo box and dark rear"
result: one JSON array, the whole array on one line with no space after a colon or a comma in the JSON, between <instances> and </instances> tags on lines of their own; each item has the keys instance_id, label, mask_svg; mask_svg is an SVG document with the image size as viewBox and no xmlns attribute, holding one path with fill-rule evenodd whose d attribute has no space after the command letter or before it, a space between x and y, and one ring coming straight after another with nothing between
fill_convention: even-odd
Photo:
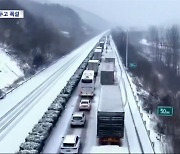
<instances>
[{"instance_id":1,"label":"largest, nearest truck with long snow-topped cargo box and dark rear","mask_svg":"<svg viewBox=\"0 0 180 154\"><path fill-rule=\"evenodd\" d=\"M97 111L99 144L120 145L124 137L124 108L118 85L102 85Z\"/></svg>"}]
</instances>

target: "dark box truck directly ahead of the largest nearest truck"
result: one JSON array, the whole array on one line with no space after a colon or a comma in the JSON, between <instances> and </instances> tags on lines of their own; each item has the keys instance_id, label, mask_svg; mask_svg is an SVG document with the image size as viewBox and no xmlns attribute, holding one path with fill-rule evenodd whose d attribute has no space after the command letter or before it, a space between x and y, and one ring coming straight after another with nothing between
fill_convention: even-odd
<instances>
[{"instance_id":1,"label":"dark box truck directly ahead of the largest nearest truck","mask_svg":"<svg viewBox=\"0 0 180 154\"><path fill-rule=\"evenodd\" d=\"M100 82L102 85L112 85L114 84L115 65L113 62L105 63L101 65L101 75Z\"/></svg>"}]
</instances>

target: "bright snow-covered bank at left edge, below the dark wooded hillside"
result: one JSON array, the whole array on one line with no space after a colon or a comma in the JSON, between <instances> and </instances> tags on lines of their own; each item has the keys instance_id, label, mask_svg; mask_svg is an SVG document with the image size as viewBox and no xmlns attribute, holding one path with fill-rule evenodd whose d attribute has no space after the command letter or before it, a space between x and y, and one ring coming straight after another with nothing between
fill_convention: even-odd
<instances>
[{"instance_id":1,"label":"bright snow-covered bank at left edge, below the dark wooded hillside","mask_svg":"<svg viewBox=\"0 0 180 154\"><path fill-rule=\"evenodd\" d=\"M7 49L0 46L0 89L12 84L24 76L17 62L6 54Z\"/></svg>"}]
</instances>

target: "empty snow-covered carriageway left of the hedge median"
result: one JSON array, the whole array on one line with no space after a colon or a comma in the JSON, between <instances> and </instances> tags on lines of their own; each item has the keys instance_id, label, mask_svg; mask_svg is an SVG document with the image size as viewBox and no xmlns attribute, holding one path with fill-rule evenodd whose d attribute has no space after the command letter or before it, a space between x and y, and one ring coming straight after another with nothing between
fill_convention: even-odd
<instances>
[{"instance_id":1,"label":"empty snow-covered carriageway left of the hedge median","mask_svg":"<svg viewBox=\"0 0 180 154\"><path fill-rule=\"evenodd\" d=\"M102 35L86 42L0 101L0 122L3 123L0 128L0 152L13 153L18 150L28 132L42 117ZM24 103L27 103L28 107ZM14 118L10 114L13 114ZM3 121L4 118L6 120Z\"/></svg>"}]
</instances>

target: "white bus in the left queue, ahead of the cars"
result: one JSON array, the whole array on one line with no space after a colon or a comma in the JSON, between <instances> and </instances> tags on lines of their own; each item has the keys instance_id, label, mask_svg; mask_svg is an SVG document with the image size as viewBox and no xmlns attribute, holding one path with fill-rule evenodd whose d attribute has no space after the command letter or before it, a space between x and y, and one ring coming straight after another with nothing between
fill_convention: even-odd
<instances>
[{"instance_id":1,"label":"white bus in the left queue, ahead of the cars","mask_svg":"<svg viewBox=\"0 0 180 154\"><path fill-rule=\"evenodd\" d=\"M95 90L94 71L85 70L81 77L80 95L81 96L94 96L94 90Z\"/></svg>"}]
</instances>

